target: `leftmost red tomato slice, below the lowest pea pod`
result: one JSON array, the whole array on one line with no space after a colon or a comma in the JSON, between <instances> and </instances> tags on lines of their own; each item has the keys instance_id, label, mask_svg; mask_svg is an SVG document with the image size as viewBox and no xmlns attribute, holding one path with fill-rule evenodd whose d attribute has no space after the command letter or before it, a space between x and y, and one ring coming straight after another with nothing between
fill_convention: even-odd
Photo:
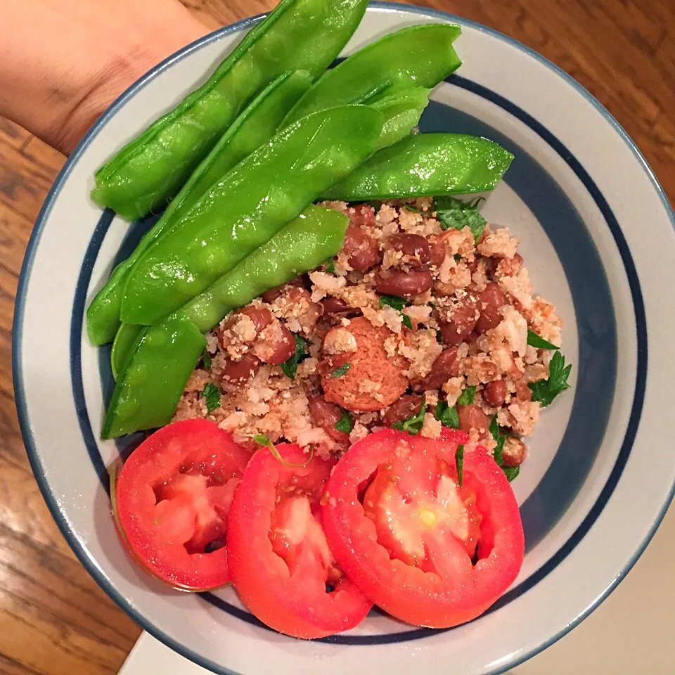
<instances>
[{"instance_id":1,"label":"leftmost red tomato slice, below the lowest pea pod","mask_svg":"<svg viewBox=\"0 0 675 675\"><path fill-rule=\"evenodd\" d=\"M172 586L229 584L227 522L251 454L208 420L183 420L148 437L115 484L122 541L142 567Z\"/></svg>"}]
</instances>

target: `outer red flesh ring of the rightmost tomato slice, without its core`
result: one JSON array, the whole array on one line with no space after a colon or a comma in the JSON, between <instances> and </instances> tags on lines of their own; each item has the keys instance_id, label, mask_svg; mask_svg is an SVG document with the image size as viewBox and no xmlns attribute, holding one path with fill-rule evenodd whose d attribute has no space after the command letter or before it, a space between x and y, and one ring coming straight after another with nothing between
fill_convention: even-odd
<instances>
[{"instance_id":1,"label":"outer red flesh ring of the rightmost tomato slice, without its core","mask_svg":"<svg viewBox=\"0 0 675 675\"><path fill-rule=\"evenodd\" d=\"M525 537L518 503L505 475L481 446L466 446L463 456L463 484L475 491L483 515L475 565L464 544L452 536L442 544L433 536L427 541L435 572L391 558L359 501L364 482L390 465L397 453L404 453L411 467L401 479L411 494L417 482L430 477L416 471L420 457L435 456L455 470L455 451L465 443L468 435L456 430L445 429L439 439L383 430L354 444L328 481L322 518L333 555L373 603L410 624L448 628L474 619L508 589L522 566Z\"/></svg>"}]
</instances>

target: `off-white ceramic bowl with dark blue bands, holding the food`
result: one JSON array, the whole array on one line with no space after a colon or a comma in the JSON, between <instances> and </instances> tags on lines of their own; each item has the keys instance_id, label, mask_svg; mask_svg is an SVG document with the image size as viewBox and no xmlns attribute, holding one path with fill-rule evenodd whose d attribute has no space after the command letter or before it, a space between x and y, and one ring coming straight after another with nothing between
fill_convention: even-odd
<instances>
[{"instance_id":1,"label":"off-white ceramic bowl with dark blue bands, holding the food","mask_svg":"<svg viewBox=\"0 0 675 675\"><path fill-rule=\"evenodd\" d=\"M500 673L581 621L628 572L673 494L669 404L675 215L638 149L577 82L481 25L373 3L345 53L406 25L459 23L464 65L433 93L423 131L464 131L515 155L483 214L508 225L536 292L565 321L572 391L542 416L513 483L527 552L482 617L419 629L371 612L313 642L259 624L231 589L191 594L150 579L110 518L107 467L130 440L101 442L112 378L89 345L87 302L147 222L129 227L89 199L95 169L207 77L260 17L165 60L101 117L72 154L27 250L14 325L21 428L44 498L98 584L150 634L217 673Z\"/></svg>"}]
</instances>

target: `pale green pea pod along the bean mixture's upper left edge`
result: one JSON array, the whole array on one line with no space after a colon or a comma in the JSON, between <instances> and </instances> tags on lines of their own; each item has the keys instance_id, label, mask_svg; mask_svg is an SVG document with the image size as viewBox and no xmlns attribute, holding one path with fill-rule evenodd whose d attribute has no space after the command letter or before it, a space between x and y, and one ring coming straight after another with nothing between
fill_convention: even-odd
<instances>
[{"instance_id":1,"label":"pale green pea pod along the bean mixture's upper left edge","mask_svg":"<svg viewBox=\"0 0 675 675\"><path fill-rule=\"evenodd\" d=\"M338 211L308 207L181 311L206 333L228 312L336 255L345 240L347 225L349 219ZM115 379L141 330L143 326L129 323L120 326L110 354ZM181 387L184 386L183 383Z\"/></svg>"}]
</instances>

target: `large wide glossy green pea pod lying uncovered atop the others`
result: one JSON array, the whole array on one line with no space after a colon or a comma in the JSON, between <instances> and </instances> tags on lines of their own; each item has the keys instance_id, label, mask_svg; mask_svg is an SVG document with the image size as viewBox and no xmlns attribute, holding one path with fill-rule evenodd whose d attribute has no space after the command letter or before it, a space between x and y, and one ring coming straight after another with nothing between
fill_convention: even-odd
<instances>
[{"instance_id":1,"label":"large wide glossy green pea pod lying uncovered atop the others","mask_svg":"<svg viewBox=\"0 0 675 675\"><path fill-rule=\"evenodd\" d=\"M271 239L373 152L382 113L343 105L278 132L214 185L129 274L124 323L153 325Z\"/></svg>"}]
</instances>

